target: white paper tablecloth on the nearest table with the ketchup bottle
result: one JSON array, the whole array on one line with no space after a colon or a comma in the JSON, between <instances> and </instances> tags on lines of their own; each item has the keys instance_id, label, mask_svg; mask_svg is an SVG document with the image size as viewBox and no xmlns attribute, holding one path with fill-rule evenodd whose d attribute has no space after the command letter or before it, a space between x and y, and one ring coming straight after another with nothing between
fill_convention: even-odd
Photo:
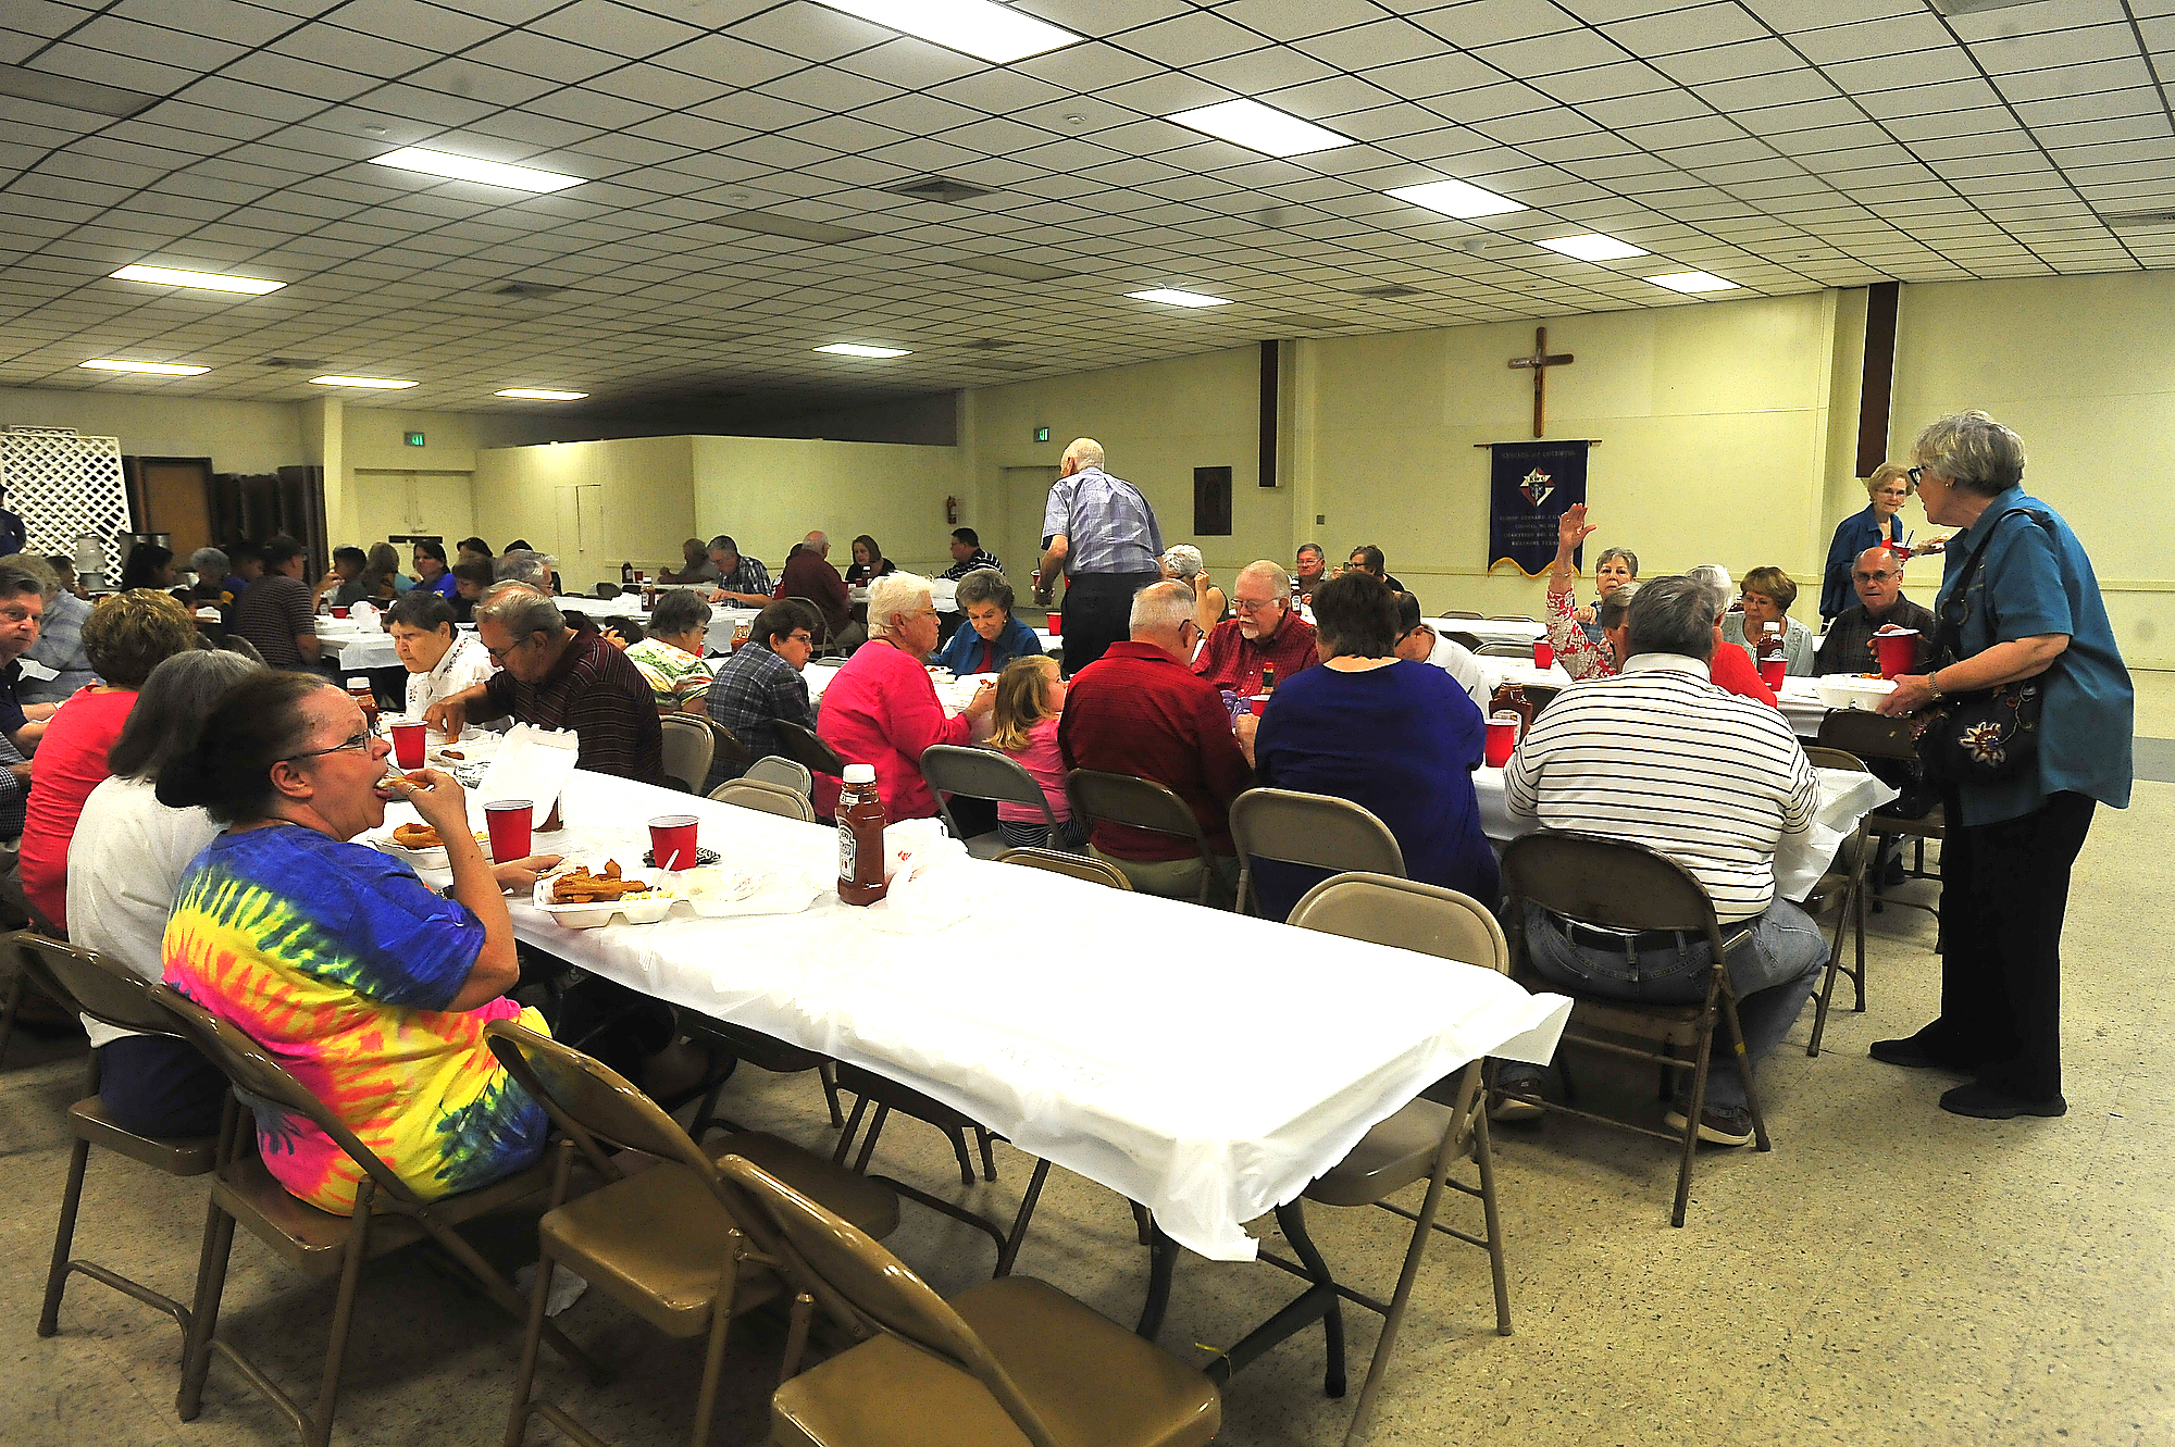
<instances>
[{"instance_id":1,"label":"white paper tablecloth on the nearest table with the ketchup bottle","mask_svg":"<svg viewBox=\"0 0 2175 1447\"><path fill-rule=\"evenodd\" d=\"M698 815L726 865L837 873L822 826L598 773L566 791L568 834L622 865L657 813ZM1253 1260L1246 1221L1435 1080L1477 1056L1549 1060L1570 1008L1492 969L1331 934L1298 947L1290 926L1016 865L959 860L946 889L970 915L918 936L829 891L805 915L679 906L602 930L515 902L513 928L631 989L924 1091L1146 1204L1214 1260Z\"/></svg>"}]
</instances>

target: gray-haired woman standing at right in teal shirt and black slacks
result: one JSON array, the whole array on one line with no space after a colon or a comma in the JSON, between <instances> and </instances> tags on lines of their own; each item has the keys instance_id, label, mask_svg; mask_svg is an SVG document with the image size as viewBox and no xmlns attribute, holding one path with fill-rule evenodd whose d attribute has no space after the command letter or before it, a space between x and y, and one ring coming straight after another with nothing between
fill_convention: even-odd
<instances>
[{"instance_id":1,"label":"gray-haired woman standing at right in teal shirt and black slacks","mask_svg":"<svg viewBox=\"0 0 2175 1447\"><path fill-rule=\"evenodd\" d=\"M1936 667L1905 674L1886 715L2003 710L1960 739L1929 724L1921 752L1947 765L1940 850L1940 1019L1875 1041L1888 1065L1964 1071L1955 1115L2062 1115L2062 917L2068 873L2099 804L2129 804L2136 700L2092 561L2068 524L2023 489L2025 443L1986 413L1942 417L1912 443L1925 515L1949 539L1934 613ZM2027 693L2040 717L2025 728ZM1973 708L1977 713L1977 708ZM2008 721L2003 721L2008 719ZM2036 743L2036 747L2034 747Z\"/></svg>"}]
</instances>

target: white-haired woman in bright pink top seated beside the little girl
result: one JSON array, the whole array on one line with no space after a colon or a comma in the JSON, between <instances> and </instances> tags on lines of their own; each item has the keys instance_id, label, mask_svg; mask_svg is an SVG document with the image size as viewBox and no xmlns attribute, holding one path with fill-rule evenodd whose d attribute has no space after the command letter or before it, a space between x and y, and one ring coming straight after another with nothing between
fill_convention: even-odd
<instances>
[{"instance_id":1,"label":"white-haired woman in bright pink top seated beside the little girl","mask_svg":"<svg viewBox=\"0 0 2175 1447\"><path fill-rule=\"evenodd\" d=\"M987 569L981 569L987 571ZM931 743L972 743L974 721L990 717L990 680L957 717L946 717L924 667L937 645L937 611L929 580L885 574L868 587L870 639L822 693L816 734L846 763L877 767L877 793L890 819L933 819L937 800L922 782ZM837 813L840 780L816 776L816 813Z\"/></svg>"}]
</instances>

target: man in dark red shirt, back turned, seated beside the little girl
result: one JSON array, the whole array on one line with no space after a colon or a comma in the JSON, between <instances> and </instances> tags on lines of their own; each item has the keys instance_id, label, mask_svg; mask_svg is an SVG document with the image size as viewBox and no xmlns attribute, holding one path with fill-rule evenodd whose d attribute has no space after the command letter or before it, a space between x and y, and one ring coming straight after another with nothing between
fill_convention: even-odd
<instances>
[{"instance_id":1,"label":"man in dark red shirt, back turned, seated beside the little girl","mask_svg":"<svg viewBox=\"0 0 2175 1447\"><path fill-rule=\"evenodd\" d=\"M1142 589L1129 630L1129 641L1111 643L1072 676L1057 750L1068 769L1151 778L1185 800L1218 878L1233 891L1238 850L1229 804L1253 782L1253 769L1214 684L1185 667L1201 637L1194 591L1183 582ZM1088 852L1118 865L1142 893L1177 899L1201 893L1201 858L1188 839L1098 821Z\"/></svg>"}]
</instances>

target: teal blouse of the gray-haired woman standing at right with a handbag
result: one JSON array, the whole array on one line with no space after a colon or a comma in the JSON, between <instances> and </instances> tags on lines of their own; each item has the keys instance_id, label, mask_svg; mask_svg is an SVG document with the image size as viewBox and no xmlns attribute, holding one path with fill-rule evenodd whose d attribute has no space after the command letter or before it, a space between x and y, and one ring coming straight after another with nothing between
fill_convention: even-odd
<instances>
[{"instance_id":1,"label":"teal blouse of the gray-haired woman standing at right with a handbag","mask_svg":"<svg viewBox=\"0 0 2175 1447\"><path fill-rule=\"evenodd\" d=\"M2044 674L2038 765L1999 784L1964 784L1964 823L2016 819L2064 791L2127 808L2136 693L2084 543L2053 508L2012 487L1949 541L1936 615L1981 541L1986 556L1964 600L1971 613L1962 656L2047 632L2068 634L2068 647Z\"/></svg>"}]
</instances>

